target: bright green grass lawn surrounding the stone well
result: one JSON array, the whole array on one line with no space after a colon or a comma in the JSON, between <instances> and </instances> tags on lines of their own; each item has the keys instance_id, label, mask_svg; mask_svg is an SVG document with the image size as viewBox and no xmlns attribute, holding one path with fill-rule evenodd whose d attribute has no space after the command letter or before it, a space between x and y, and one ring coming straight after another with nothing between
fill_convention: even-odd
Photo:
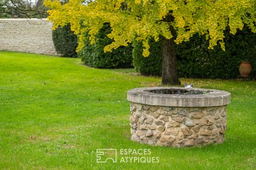
<instances>
[{"instance_id":1,"label":"bright green grass lawn surrounding the stone well","mask_svg":"<svg viewBox=\"0 0 256 170\"><path fill-rule=\"evenodd\" d=\"M0 169L256 169L256 81L180 80L231 92L221 145L130 140L126 91L159 86L160 78L93 69L75 58L0 52ZM98 148L150 149L159 163L97 163Z\"/></svg>"}]
</instances>

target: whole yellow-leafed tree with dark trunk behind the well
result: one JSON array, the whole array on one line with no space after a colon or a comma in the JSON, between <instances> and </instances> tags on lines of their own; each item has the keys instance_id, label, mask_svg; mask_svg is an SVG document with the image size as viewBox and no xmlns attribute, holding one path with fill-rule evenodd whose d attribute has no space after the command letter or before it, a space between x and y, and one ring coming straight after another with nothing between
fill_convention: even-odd
<instances>
[{"instance_id":1,"label":"whole yellow-leafed tree with dark trunk behind the well","mask_svg":"<svg viewBox=\"0 0 256 170\"><path fill-rule=\"evenodd\" d=\"M49 19L53 29L71 24L78 35L78 49L83 47L85 33L94 43L95 35L104 23L110 23L108 37L113 43L105 47L111 51L127 46L132 40L142 41L143 56L149 55L149 39L162 39L162 84L180 84L175 63L174 42L188 41L195 33L206 35L213 48L220 43L223 50L223 31L229 27L235 34L247 24L256 32L254 0L45 0L51 8ZM175 39L173 36L176 35Z\"/></svg>"}]
</instances>

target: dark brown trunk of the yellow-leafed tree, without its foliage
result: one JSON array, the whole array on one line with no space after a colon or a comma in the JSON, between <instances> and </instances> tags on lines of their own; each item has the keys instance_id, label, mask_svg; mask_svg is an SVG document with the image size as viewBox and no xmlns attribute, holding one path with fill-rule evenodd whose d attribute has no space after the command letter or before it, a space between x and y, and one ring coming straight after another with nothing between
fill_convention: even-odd
<instances>
[{"instance_id":1,"label":"dark brown trunk of the yellow-leafed tree, without its foliage","mask_svg":"<svg viewBox=\"0 0 256 170\"><path fill-rule=\"evenodd\" d=\"M166 16L164 19L166 22L173 21L171 15ZM162 38L162 60L163 60L163 70L162 70L162 84L172 84L172 85L180 85L178 71L176 67L176 57L175 57L175 49L174 49L174 35L175 31L170 25L170 31L173 35L173 38L166 39Z\"/></svg>"}]
</instances>

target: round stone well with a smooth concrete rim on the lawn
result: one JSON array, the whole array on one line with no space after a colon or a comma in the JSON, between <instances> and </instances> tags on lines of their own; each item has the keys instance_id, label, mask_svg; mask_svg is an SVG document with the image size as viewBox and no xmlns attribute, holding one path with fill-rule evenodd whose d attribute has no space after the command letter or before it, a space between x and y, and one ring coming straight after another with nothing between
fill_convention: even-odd
<instances>
[{"instance_id":1,"label":"round stone well with a smooth concrete rim on the lawn","mask_svg":"<svg viewBox=\"0 0 256 170\"><path fill-rule=\"evenodd\" d=\"M180 87L127 92L132 140L158 146L203 146L224 141L230 93Z\"/></svg>"}]
</instances>

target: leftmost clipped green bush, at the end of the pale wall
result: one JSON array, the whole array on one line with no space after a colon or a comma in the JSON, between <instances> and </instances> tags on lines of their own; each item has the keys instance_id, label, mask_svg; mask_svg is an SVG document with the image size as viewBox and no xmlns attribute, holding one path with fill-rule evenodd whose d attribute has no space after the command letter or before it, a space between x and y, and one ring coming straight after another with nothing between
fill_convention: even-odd
<instances>
[{"instance_id":1,"label":"leftmost clipped green bush, at the end of the pale wall","mask_svg":"<svg viewBox=\"0 0 256 170\"><path fill-rule=\"evenodd\" d=\"M77 36L70 30L70 24L52 31L55 50L62 57L77 57Z\"/></svg>"}]
</instances>

